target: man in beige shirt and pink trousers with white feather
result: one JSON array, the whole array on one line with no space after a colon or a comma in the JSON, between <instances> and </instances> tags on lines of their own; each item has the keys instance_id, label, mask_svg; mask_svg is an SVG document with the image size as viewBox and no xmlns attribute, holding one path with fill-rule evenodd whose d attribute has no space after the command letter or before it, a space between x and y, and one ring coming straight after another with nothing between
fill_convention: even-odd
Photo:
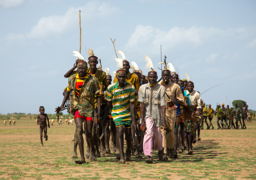
<instances>
[{"instance_id":1,"label":"man in beige shirt and pink trousers with white feather","mask_svg":"<svg viewBox=\"0 0 256 180\"><path fill-rule=\"evenodd\" d=\"M151 70L148 73L149 83L140 87L138 101L140 102L142 126L146 125L146 132L143 140L144 154L149 158L147 163L153 163L153 141L154 149L158 149L158 160L163 157L163 139L160 126L168 128L165 121L165 88L157 83L157 72L148 56L144 56L147 63L146 68Z\"/></svg>"}]
</instances>

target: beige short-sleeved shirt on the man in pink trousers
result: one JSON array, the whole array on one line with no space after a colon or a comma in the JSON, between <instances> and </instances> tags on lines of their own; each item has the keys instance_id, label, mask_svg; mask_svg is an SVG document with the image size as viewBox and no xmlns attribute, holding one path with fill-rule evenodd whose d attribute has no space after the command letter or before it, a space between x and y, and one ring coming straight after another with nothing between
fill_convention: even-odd
<instances>
[{"instance_id":1,"label":"beige short-sleeved shirt on the man in pink trousers","mask_svg":"<svg viewBox=\"0 0 256 180\"><path fill-rule=\"evenodd\" d=\"M165 88L160 84L155 84L152 88L150 84L144 84L138 92L138 101L144 103L145 120L151 117L155 127L160 127L163 121L161 106L165 106Z\"/></svg>"}]
</instances>

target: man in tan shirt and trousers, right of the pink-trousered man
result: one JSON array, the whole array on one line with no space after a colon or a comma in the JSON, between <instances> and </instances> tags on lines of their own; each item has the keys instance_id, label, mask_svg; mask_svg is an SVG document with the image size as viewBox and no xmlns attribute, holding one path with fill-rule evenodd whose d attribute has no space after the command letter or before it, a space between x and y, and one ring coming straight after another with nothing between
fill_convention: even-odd
<instances>
[{"instance_id":1,"label":"man in tan shirt and trousers, right of the pink-trousered man","mask_svg":"<svg viewBox=\"0 0 256 180\"><path fill-rule=\"evenodd\" d=\"M175 74L175 69L171 63L159 63L164 64L164 70L162 71L162 81L159 82L162 86L165 87L165 101L171 100L171 104L183 104L184 97L181 91L181 88L176 83L170 81L171 74ZM168 95L168 96L167 96ZM178 129L174 130L176 122L176 109L166 107L166 123L168 128L171 130L169 132L162 131L163 135L163 147L164 147L164 156L163 160L167 160L167 148L169 149L169 157L177 157L176 147L174 149L175 136L178 136ZM179 120L179 119L178 119ZM178 122L179 123L179 122ZM166 134L166 135L165 135ZM177 143L177 142L176 142ZM175 143L175 144L176 144Z\"/></svg>"}]
</instances>

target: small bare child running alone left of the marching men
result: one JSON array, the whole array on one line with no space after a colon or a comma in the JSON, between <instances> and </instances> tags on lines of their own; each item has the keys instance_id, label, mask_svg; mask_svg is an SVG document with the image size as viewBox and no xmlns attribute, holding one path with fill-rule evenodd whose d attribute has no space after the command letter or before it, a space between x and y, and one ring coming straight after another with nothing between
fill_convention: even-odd
<instances>
[{"instance_id":1,"label":"small bare child running alone left of the marching men","mask_svg":"<svg viewBox=\"0 0 256 180\"><path fill-rule=\"evenodd\" d=\"M45 140L48 140L46 118L48 121L49 128L50 128L50 123L49 123L49 118L47 114L44 113L44 107L40 107L39 112L40 114L37 116L37 124L40 125L40 140L41 140L41 146L43 146L43 137L45 138ZM43 131L44 131L44 136L43 136Z\"/></svg>"}]
</instances>

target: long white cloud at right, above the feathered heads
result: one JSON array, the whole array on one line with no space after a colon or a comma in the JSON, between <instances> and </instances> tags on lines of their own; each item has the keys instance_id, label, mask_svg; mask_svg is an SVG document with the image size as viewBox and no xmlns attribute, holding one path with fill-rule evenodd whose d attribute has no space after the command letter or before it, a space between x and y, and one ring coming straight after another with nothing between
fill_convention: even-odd
<instances>
[{"instance_id":1,"label":"long white cloud at right, above the feathered heads","mask_svg":"<svg viewBox=\"0 0 256 180\"><path fill-rule=\"evenodd\" d=\"M132 48L141 44L147 44L153 49L161 44L168 45L167 49L172 47L198 47L206 41L214 41L216 38L221 38L226 34L225 31L217 28L197 28L191 27L188 29L174 27L168 32L161 31L152 26L138 25L130 37L126 48Z\"/></svg>"}]
</instances>

